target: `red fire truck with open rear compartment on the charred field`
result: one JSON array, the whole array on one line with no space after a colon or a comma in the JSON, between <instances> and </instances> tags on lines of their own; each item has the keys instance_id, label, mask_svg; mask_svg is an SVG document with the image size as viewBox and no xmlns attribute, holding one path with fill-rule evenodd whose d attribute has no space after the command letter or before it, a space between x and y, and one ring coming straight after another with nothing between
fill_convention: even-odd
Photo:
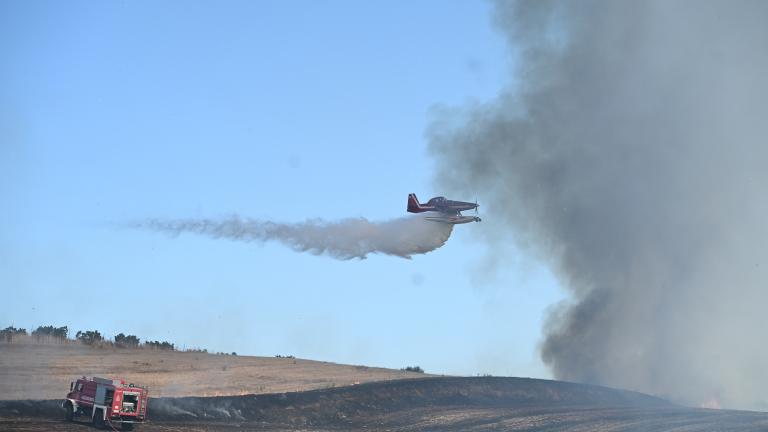
<instances>
[{"instance_id":1,"label":"red fire truck with open rear compartment on the charred field","mask_svg":"<svg viewBox=\"0 0 768 432\"><path fill-rule=\"evenodd\" d=\"M87 416L96 427L109 424L132 430L134 424L146 420L148 398L147 388L123 379L82 377L70 383L62 407L68 421Z\"/></svg>"}]
</instances>

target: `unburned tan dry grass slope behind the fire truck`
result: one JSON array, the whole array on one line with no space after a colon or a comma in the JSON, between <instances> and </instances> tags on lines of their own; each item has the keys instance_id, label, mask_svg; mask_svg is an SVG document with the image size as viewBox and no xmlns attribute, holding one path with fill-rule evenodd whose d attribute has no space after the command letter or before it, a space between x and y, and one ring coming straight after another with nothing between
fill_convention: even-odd
<instances>
[{"instance_id":1,"label":"unburned tan dry grass slope behind the fire truck","mask_svg":"<svg viewBox=\"0 0 768 432\"><path fill-rule=\"evenodd\" d=\"M424 376L291 358L39 344L32 338L0 343L0 400L62 398L82 375L124 377L149 386L152 397L296 392Z\"/></svg>"}]
</instances>

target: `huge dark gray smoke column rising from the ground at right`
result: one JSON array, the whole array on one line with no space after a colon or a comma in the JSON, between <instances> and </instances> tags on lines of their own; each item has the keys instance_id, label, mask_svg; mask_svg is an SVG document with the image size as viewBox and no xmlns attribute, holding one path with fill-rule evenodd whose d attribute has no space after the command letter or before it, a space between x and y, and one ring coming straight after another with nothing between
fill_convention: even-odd
<instances>
[{"instance_id":1,"label":"huge dark gray smoke column rising from the ground at right","mask_svg":"<svg viewBox=\"0 0 768 432\"><path fill-rule=\"evenodd\" d=\"M768 410L768 2L500 2L495 23L510 88L438 115L430 148L489 238L570 290L544 362Z\"/></svg>"}]
</instances>

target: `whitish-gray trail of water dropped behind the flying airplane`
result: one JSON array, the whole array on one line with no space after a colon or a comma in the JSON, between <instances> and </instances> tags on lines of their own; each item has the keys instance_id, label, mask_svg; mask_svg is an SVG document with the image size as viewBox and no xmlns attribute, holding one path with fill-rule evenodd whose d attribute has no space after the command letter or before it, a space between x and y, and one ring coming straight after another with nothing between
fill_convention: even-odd
<instances>
[{"instance_id":1,"label":"whitish-gray trail of water dropped behind the flying airplane","mask_svg":"<svg viewBox=\"0 0 768 432\"><path fill-rule=\"evenodd\" d=\"M431 252L448 241L453 225L404 217L385 222L365 218L326 222L319 219L285 224L233 216L227 219L149 219L137 228L171 234L184 232L239 241L284 243L296 251L333 258L364 259L381 253L410 259L412 255Z\"/></svg>"}]
</instances>

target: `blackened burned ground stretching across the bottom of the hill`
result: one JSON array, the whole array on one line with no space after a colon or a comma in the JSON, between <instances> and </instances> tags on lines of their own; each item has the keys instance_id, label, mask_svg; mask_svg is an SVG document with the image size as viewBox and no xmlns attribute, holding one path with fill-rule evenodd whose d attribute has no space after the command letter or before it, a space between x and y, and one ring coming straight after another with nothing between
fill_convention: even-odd
<instances>
[{"instance_id":1,"label":"blackened burned ground stretching across the bottom of the hill","mask_svg":"<svg viewBox=\"0 0 768 432\"><path fill-rule=\"evenodd\" d=\"M86 431L57 400L0 402L0 429ZM155 398L145 431L758 431L768 413L526 378L426 378L292 393Z\"/></svg>"}]
</instances>

